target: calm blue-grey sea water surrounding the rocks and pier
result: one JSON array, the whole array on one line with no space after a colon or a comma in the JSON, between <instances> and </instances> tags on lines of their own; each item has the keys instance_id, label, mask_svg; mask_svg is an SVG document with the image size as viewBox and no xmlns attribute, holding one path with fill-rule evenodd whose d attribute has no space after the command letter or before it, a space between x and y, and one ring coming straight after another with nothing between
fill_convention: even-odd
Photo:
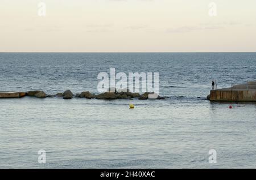
<instances>
[{"instance_id":1,"label":"calm blue-grey sea water surrounding the rocks and pier","mask_svg":"<svg viewBox=\"0 0 256 180\"><path fill-rule=\"evenodd\" d=\"M110 67L159 72L170 98L1 99L0 168L256 168L256 104L205 100L255 80L256 53L0 53L0 91L97 93Z\"/></svg>"}]
</instances>

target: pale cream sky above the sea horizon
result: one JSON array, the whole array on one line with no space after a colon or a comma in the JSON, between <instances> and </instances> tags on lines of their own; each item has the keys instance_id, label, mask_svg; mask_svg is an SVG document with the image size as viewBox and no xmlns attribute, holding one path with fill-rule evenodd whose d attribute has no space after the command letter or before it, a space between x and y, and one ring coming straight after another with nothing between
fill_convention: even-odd
<instances>
[{"instance_id":1,"label":"pale cream sky above the sea horizon","mask_svg":"<svg viewBox=\"0 0 256 180\"><path fill-rule=\"evenodd\" d=\"M256 52L256 1L0 0L0 52Z\"/></svg>"}]
</instances>

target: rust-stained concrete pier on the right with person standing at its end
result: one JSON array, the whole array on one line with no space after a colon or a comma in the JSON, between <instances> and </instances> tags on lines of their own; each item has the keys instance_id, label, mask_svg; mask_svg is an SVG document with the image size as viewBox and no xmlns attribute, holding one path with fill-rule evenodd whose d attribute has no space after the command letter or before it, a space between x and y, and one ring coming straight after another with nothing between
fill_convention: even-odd
<instances>
[{"instance_id":1,"label":"rust-stained concrete pier on the right with person standing at its end","mask_svg":"<svg viewBox=\"0 0 256 180\"><path fill-rule=\"evenodd\" d=\"M210 101L255 101L256 81L210 91Z\"/></svg>"}]
</instances>

